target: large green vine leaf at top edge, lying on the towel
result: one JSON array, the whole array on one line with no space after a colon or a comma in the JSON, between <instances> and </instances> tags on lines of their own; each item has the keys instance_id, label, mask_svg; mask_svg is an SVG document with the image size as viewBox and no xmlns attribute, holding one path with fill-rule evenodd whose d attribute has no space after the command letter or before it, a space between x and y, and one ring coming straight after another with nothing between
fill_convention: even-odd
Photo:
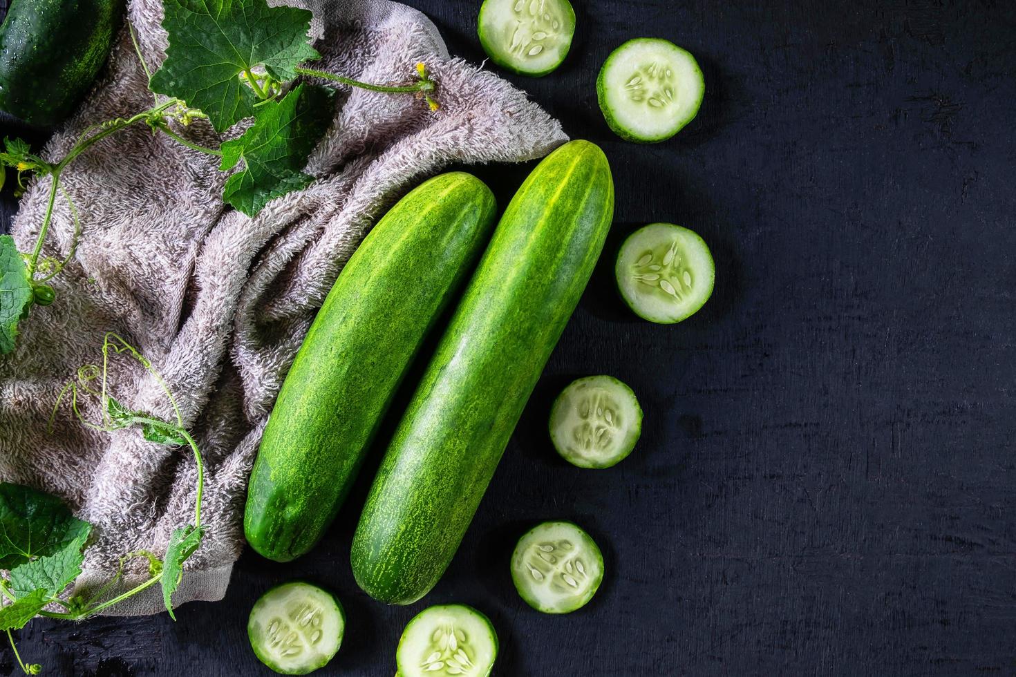
<instances>
[{"instance_id":1,"label":"large green vine leaf at top edge, lying on the towel","mask_svg":"<svg viewBox=\"0 0 1016 677\"><path fill-rule=\"evenodd\" d=\"M257 67L281 81L321 57L308 44L312 14L265 0L165 0L170 38L152 91L200 109L218 132L254 115L257 95L241 73Z\"/></svg>"}]
</instances>

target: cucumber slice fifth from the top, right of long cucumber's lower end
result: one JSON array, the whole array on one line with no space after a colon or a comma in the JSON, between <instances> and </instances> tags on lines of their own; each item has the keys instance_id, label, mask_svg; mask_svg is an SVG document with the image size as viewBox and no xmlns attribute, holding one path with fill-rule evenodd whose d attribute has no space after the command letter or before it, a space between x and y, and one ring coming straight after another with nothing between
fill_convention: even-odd
<instances>
[{"instance_id":1,"label":"cucumber slice fifth from the top, right of long cucumber's lower end","mask_svg":"<svg viewBox=\"0 0 1016 677\"><path fill-rule=\"evenodd\" d=\"M604 555L571 522L544 522L518 539L511 578L526 604L544 613L571 613L592 599L604 580Z\"/></svg>"}]
</instances>

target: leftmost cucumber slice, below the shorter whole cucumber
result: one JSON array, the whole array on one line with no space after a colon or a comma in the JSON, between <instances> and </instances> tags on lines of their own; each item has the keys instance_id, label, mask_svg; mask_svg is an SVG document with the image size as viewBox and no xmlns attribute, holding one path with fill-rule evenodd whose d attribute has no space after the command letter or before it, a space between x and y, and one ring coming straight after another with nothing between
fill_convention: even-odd
<instances>
[{"instance_id":1,"label":"leftmost cucumber slice, below the shorter whole cucumber","mask_svg":"<svg viewBox=\"0 0 1016 677\"><path fill-rule=\"evenodd\" d=\"M344 631L345 612L338 599L302 581L266 592L247 621L254 654L282 675L323 668L338 651Z\"/></svg>"}]
</instances>

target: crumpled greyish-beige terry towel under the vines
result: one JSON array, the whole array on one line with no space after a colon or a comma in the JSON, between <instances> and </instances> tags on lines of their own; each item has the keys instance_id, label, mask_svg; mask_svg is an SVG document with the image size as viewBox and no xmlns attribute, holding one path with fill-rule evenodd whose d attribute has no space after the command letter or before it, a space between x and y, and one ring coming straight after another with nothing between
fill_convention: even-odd
<instances>
[{"instance_id":1,"label":"crumpled greyish-beige terry towel under the vines","mask_svg":"<svg viewBox=\"0 0 1016 677\"><path fill-rule=\"evenodd\" d=\"M158 367L202 448L208 532L175 601L220 599L243 548L247 476L265 419L315 312L371 224L449 162L519 161L565 141L523 92L450 58L420 12L386 0L305 6L324 55L315 67L384 83L408 79L423 61L439 82L440 111L407 95L340 92L307 168L318 181L255 218L224 207L217 158L143 126L99 143L63 175L82 235L55 280L56 303L36 308L17 350L0 357L0 479L57 493L96 526L82 582L107 580L126 552L165 551L194 501L187 450L146 443L136 430L86 430L66 411L47 432L61 385L97 359L105 332L123 335ZM157 65L167 44L162 3L135 0L129 15ZM88 124L151 104L124 32L106 80L45 154L62 156ZM207 128L188 133L218 141ZM13 235L22 250L35 242L48 183L31 186L21 203ZM46 254L66 254L72 231L59 207ZM169 417L140 367L120 364L112 384L124 405ZM111 612L160 611L157 590L146 592Z\"/></svg>"}]
</instances>

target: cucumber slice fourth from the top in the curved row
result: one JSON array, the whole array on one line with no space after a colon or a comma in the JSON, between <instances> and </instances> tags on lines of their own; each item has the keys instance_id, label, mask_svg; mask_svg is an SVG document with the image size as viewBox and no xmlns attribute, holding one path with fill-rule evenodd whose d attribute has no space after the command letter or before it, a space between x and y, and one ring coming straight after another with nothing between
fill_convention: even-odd
<instances>
[{"instance_id":1,"label":"cucumber slice fourth from the top in the curved row","mask_svg":"<svg viewBox=\"0 0 1016 677\"><path fill-rule=\"evenodd\" d=\"M579 468L617 465L632 453L641 433L638 399L614 377L573 381L551 409L554 448Z\"/></svg>"}]
</instances>

